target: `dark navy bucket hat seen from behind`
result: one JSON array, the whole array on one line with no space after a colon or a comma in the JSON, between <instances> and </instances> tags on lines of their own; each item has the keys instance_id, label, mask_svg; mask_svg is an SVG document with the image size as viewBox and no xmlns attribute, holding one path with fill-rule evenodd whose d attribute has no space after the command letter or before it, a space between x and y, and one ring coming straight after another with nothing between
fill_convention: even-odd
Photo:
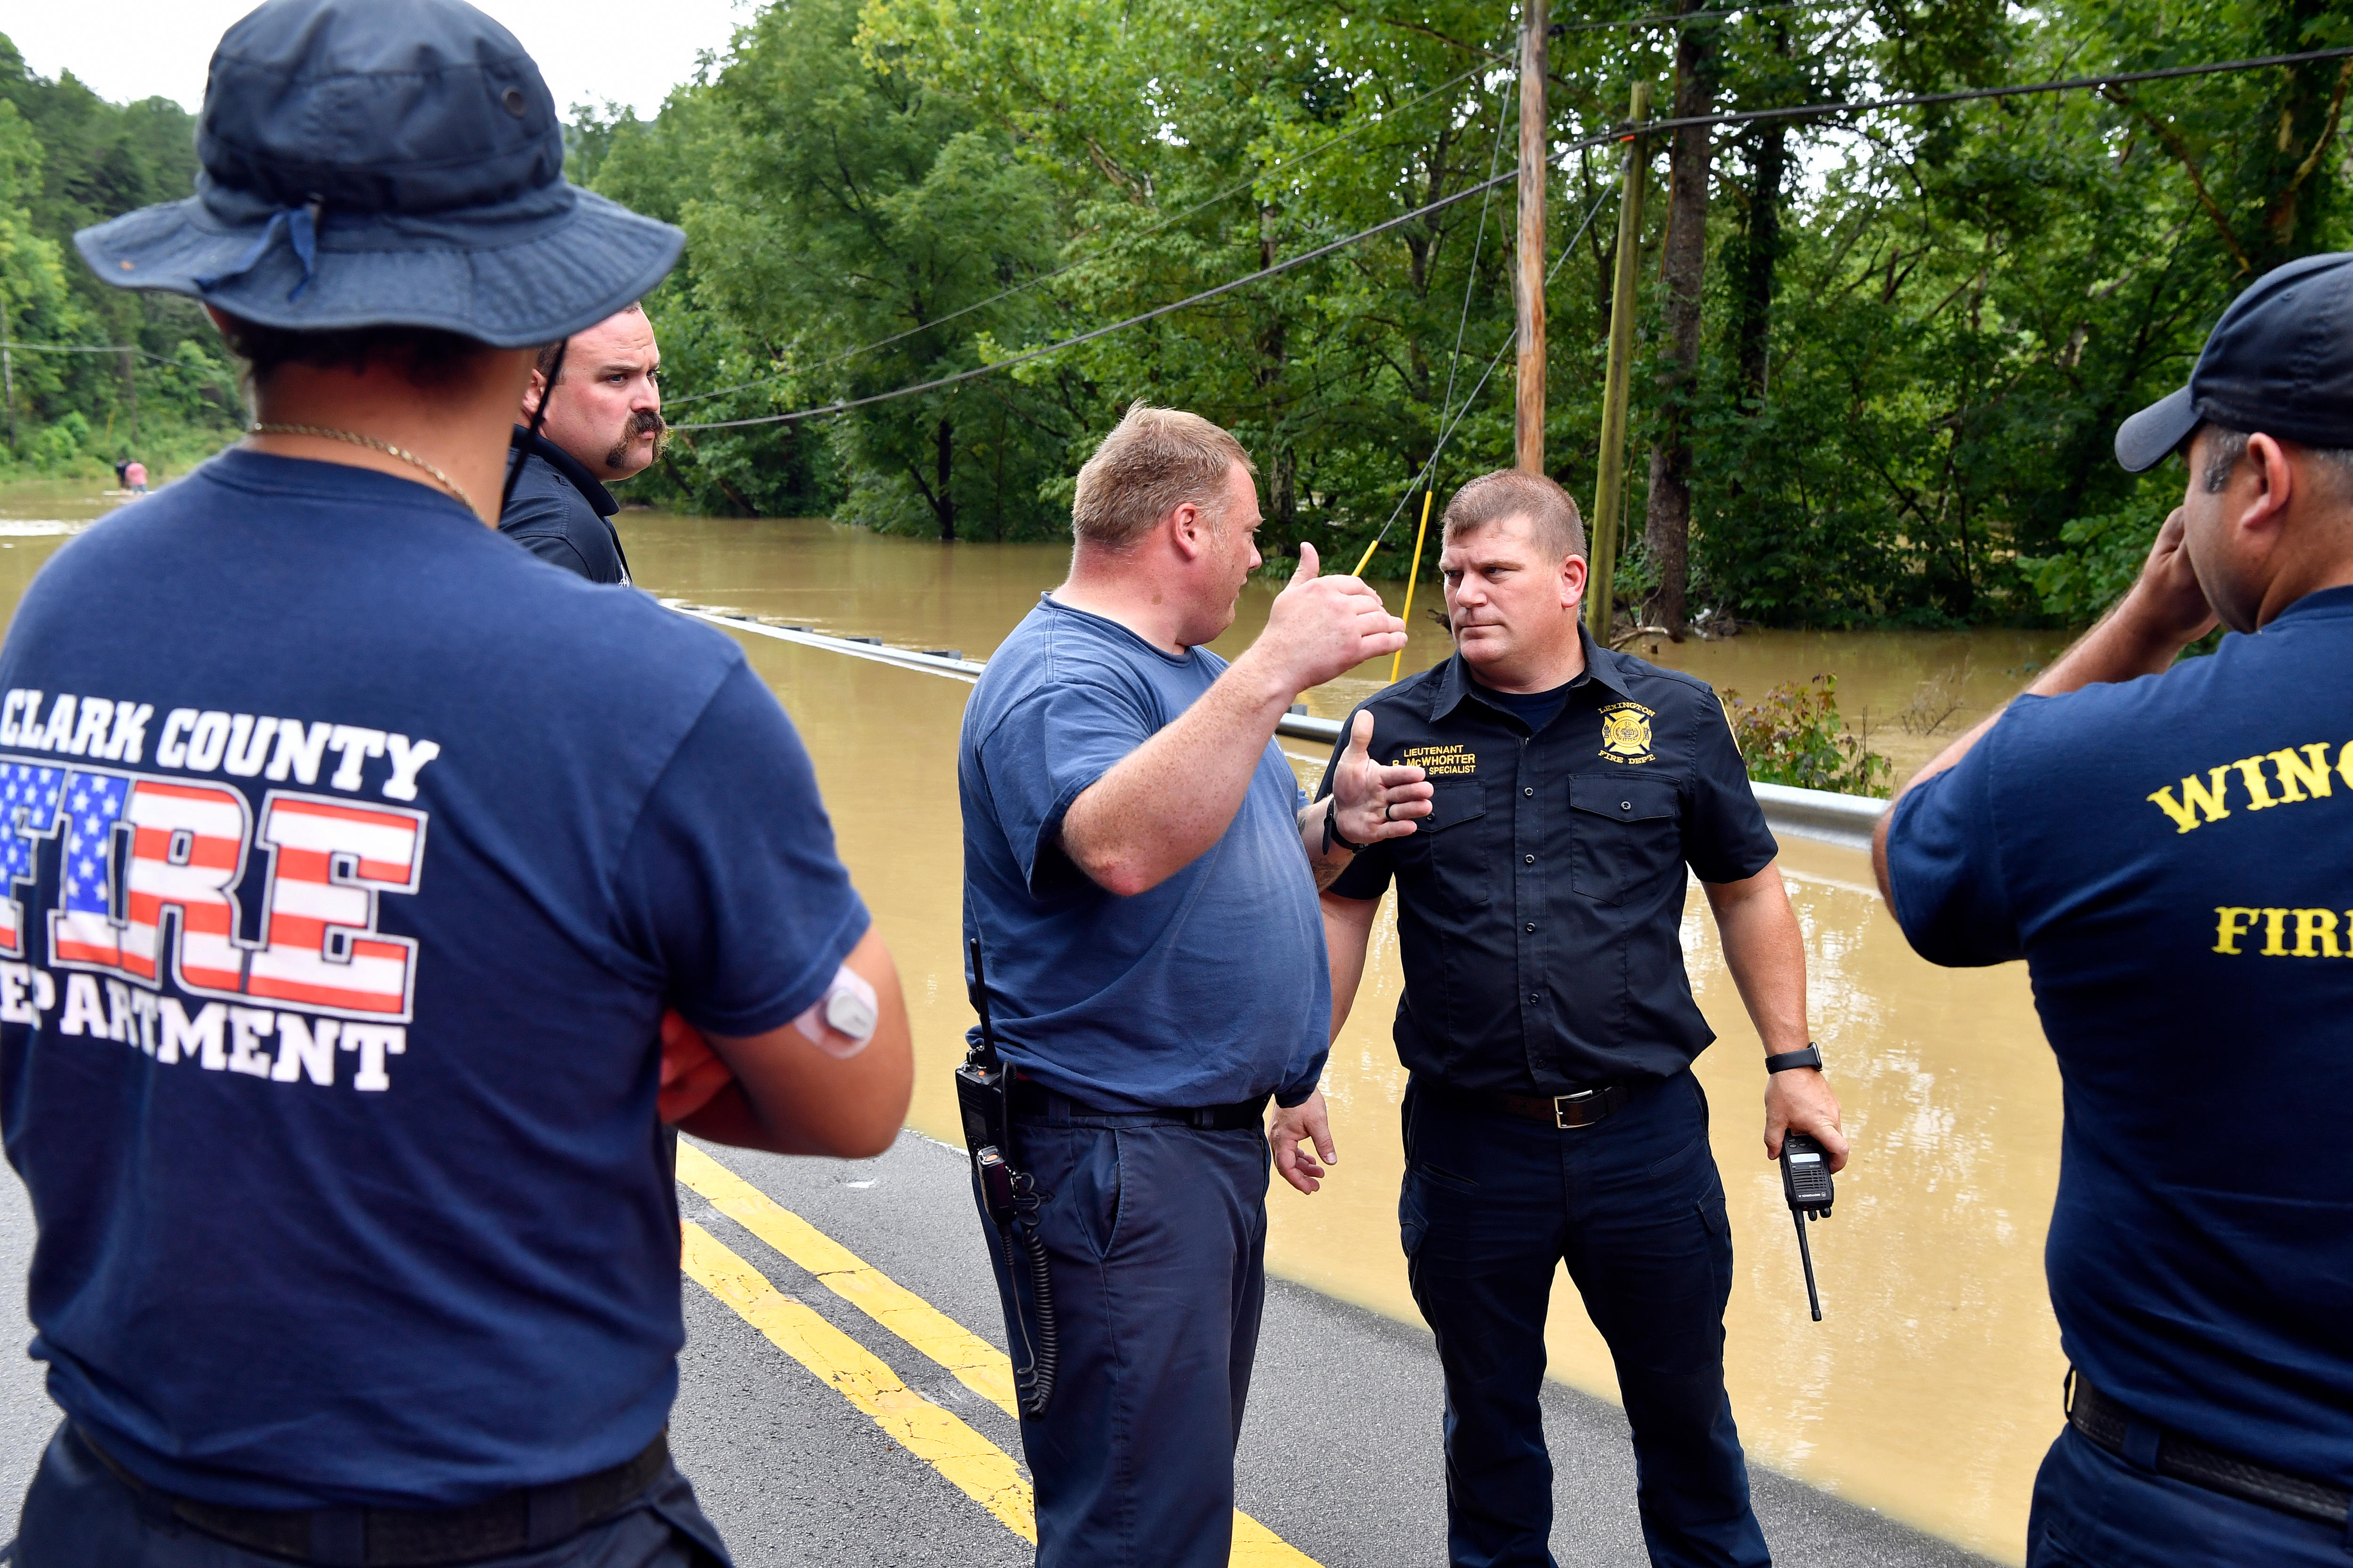
<instances>
[{"instance_id":1,"label":"dark navy bucket hat seen from behind","mask_svg":"<svg viewBox=\"0 0 2353 1568\"><path fill-rule=\"evenodd\" d=\"M212 54L195 153L195 195L73 242L111 284L264 327L553 343L685 247L565 181L539 66L461 0L271 0Z\"/></svg>"}]
</instances>

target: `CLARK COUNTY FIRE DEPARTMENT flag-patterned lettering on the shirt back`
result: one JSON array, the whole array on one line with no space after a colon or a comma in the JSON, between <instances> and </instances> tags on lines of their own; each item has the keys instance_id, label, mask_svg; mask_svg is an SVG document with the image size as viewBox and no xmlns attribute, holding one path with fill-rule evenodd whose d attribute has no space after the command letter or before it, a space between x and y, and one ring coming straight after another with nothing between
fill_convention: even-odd
<instances>
[{"instance_id":1,"label":"CLARK COUNTY FIRE DEPARTMENT flag-patterned lettering on the shirt back","mask_svg":"<svg viewBox=\"0 0 2353 1568\"><path fill-rule=\"evenodd\" d=\"M139 762L153 712L7 691L0 748ZM174 773L0 755L0 1023L47 1020L160 1065L386 1091L419 954L376 914L384 893L419 891L431 818L348 795L416 799L440 745L186 708L160 736L155 764ZM259 799L191 771L256 778ZM346 795L266 788L278 778ZM252 870L259 910L240 905ZM45 954L28 940L35 910Z\"/></svg>"}]
</instances>

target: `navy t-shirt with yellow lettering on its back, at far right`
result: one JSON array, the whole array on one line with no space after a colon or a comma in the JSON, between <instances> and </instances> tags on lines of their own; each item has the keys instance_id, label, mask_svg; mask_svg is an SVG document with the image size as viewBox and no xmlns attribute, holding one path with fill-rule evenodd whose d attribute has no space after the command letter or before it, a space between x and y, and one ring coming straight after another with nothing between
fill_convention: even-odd
<instances>
[{"instance_id":1,"label":"navy t-shirt with yellow lettering on its back, at far right","mask_svg":"<svg viewBox=\"0 0 2353 1568\"><path fill-rule=\"evenodd\" d=\"M2353 588L2019 698L1897 804L1937 964L2026 959L2066 1084L2045 1269L2144 1418L2353 1483Z\"/></svg>"}]
</instances>

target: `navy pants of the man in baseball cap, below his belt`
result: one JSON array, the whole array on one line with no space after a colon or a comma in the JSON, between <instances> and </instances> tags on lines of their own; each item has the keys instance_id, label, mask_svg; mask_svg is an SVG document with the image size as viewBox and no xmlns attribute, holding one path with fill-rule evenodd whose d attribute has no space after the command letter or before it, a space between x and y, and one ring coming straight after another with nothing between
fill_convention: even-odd
<instances>
[{"instance_id":1,"label":"navy pants of the man in baseball cap, below his belt","mask_svg":"<svg viewBox=\"0 0 2353 1568\"><path fill-rule=\"evenodd\" d=\"M2026 1568L2353 1568L2341 1523L2137 1469L2068 1427L2042 1455Z\"/></svg>"}]
</instances>

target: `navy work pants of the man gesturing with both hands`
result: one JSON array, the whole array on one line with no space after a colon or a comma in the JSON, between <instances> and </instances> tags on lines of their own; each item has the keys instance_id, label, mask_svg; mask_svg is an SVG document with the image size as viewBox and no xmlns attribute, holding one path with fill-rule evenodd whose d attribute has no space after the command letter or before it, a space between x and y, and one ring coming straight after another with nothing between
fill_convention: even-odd
<instances>
[{"instance_id":1,"label":"navy work pants of the man gesturing with both hands","mask_svg":"<svg viewBox=\"0 0 2353 1568\"><path fill-rule=\"evenodd\" d=\"M1056 1098L1056 1105L1066 1105ZM1226 1568L1233 1448L1266 1305L1266 1138L1172 1117L1014 1119L1061 1321L1061 1375L1021 1418L1038 1568ZM1035 1305L981 1211L1014 1366Z\"/></svg>"}]
</instances>

